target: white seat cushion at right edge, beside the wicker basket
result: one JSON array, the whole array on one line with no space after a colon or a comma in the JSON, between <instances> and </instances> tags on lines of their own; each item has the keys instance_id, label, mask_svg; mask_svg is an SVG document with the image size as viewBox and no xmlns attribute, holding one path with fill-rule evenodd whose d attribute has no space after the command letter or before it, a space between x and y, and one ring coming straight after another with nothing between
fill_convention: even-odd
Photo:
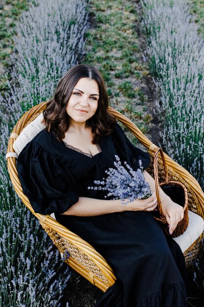
<instances>
[{"instance_id":1,"label":"white seat cushion at right edge, beside the wicker basket","mask_svg":"<svg viewBox=\"0 0 204 307\"><path fill-rule=\"evenodd\" d=\"M187 229L177 238L173 238L180 246L181 251L184 253L201 235L204 231L203 218L188 210L189 224Z\"/></svg>"}]
</instances>

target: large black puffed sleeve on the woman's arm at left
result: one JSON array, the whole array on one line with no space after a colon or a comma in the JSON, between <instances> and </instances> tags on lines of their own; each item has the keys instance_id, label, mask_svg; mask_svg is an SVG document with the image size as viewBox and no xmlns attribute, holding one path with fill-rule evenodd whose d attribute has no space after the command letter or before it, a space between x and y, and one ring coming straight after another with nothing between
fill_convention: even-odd
<instances>
[{"instance_id":1,"label":"large black puffed sleeve on the woman's arm at left","mask_svg":"<svg viewBox=\"0 0 204 307\"><path fill-rule=\"evenodd\" d=\"M72 190L73 176L63 162L48 153L37 142L29 142L17 159L23 193L36 213L64 213L77 203L79 195Z\"/></svg>"}]
</instances>

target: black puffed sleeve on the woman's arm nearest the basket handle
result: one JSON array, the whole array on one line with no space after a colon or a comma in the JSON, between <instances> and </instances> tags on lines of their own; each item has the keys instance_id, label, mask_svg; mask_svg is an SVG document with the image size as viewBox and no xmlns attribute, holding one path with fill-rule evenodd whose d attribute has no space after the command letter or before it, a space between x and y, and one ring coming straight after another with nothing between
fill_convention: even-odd
<instances>
[{"instance_id":1,"label":"black puffed sleeve on the woman's arm nearest the basket handle","mask_svg":"<svg viewBox=\"0 0 204 307\"><path fill-rule=\"evenodd\" d=\"M116 123L114 128L114 142L120 153L121 158L136 171L139 166L139 160L142 162L143 171L149 166L151 159L149 153L136 148L126 136L123 129Z\"/></svg>"}]
</instances>

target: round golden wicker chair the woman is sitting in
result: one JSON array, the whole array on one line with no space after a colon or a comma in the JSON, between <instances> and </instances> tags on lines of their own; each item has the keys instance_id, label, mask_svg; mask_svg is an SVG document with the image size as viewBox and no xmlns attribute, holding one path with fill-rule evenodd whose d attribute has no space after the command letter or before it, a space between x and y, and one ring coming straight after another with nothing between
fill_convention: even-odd
<instances>
[{"instance_id":1,"label":"round golden wicker chair the woman is sitting in","mask_svg":"<svg viewBox=\"0 0 204 307\"><path fill-rule=\"evenodd\" d=\"M29 203L28 198L23 194L16 167L16 159L18 155L13 149L13 143L22 132L23 128L25 128L42 113L45 106L46 102L42 102L28 110L18 121L10 135L6 154L10 178L17 194L28 209L39 219L42 227L50 236L55 246L63 254L66 250L69 252L70 256L65 260L65 262L67 262L70 267L72 267L80 275L105 292L107 288L113 285L116 280L113 270L108 265L106 260L99 255L89 243L82 240L79 236L69 231L64 226L60 225L52 216L35 213ZM150 155L154 156L157 146L154 145L144 134L142 134L142 132L124 115L111 107L110 112L117 120L129 128L141 142L141 144L143 144L149 150ZM196 179L194 179L184 168L173 161L168 155L165 154L165 158L170 179L180 180L187 187L189 210L204 218L204 193L200 185ZM159 158L159 179L161 180L163 169L160 162L161 160ZM153 160L147 171L154 177ZM203 219L200 218L200 220L203 222ZM191 246L184 251L187 266L190 265L193 259L195 259L197 256L199 243L203 237L202 230L199 231ZM181 237L182 236L179 238Z\"/></svg>"}]
</instances>

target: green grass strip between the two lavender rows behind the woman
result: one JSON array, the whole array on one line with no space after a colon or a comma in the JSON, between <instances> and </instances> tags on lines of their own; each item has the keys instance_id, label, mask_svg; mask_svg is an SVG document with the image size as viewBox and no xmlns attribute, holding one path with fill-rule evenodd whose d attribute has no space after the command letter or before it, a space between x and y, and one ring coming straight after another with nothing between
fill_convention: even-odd
<instances>
[{"instance_id":1,"label":"green grass strip between the two lavender rows behind the woman","mask_svg":"<svg viewBox=\"0 0 204 307\"><path fill-rule=\"evenodd\" d=\"M91 14L95 26L87 33L83 63L102 73L111 105L147 131L150 115L142 110L147 97L140 91L140 82L149 71L137 58L141 51L135 4L131 0L91 0ZM128 136L133 140L131 133Z\"/></svg>"}]
</instances>

